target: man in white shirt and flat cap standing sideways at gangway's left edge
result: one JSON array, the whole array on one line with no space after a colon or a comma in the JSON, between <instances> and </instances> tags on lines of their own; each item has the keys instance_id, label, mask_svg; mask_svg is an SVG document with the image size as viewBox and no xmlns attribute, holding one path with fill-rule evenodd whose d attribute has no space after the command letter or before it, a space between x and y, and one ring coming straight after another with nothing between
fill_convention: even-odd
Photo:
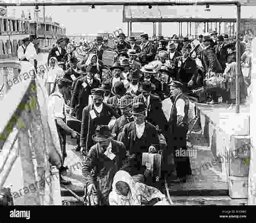
<instances>
[{"instance_id":1,"label":"man in white shirt and flat cap standing sideways at gangway's left edge","mask_svg":"<svg viewBox=\"0 0 256 223\"><path fill-rule=\"evenodd\" d=\"M61 151L62 151L62 163L61 164L54 164L56 162L56 157L50 157L51 164L56 165L59 169L60 174L60 182L61 184L68 185L71 182L65 180L62 178L61 174L65 170L65 167L63 167L64 160L67 157L66 153L66 135L71 135L72 138L79 138L78 132L74 131L73 129L70 129L69 126L66 124L66 114L64 112L65 110L65 104L67 104L67 101L65 100L65 95L70 92L72 81L67 80L65 78L61 78L58 80L58 92L54 92L49 96L48 101L48 113L51 115L51 118L54 119L58 131L59 136L59 142L61 145Z\"/></svg>"}]
</instances>

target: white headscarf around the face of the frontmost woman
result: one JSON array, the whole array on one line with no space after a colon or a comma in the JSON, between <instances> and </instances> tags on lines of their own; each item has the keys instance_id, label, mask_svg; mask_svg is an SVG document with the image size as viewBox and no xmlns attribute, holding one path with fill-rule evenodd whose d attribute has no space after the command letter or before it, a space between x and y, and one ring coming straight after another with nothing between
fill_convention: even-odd
<instances>
[{"instance_id":1,"label":"white headscarf around the face of the frontmost woman","mask_svg":"<svg viewBox=\"0 0 256 223\"><path fill-rule=\"evenodd\" d=\"M129 185L130 191L127 196L120 195L118 193L116 188L116 183L118 181L123 181ZM119 170L114 176L112 184L113 189L109 196L113 198L115 202L118 203L118 205L141 205L139 196L136 193L136 189L134 188L135 184L136 183L128 172Z\"/></svg>"}]
</instances>

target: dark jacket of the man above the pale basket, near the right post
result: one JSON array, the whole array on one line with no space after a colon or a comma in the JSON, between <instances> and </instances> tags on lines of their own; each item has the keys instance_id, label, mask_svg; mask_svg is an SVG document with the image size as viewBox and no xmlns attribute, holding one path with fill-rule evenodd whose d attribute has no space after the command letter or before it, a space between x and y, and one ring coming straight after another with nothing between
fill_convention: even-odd
<instances>
[{"instance_id":1,"label":"dark jacket of the man above the pale basket, near the right post","mask_svg":"<svg viewBox=\"0 0 256 223\"><path fill-rule=\"evenodd\" d=\"M202 52L202 63L205 68L205 73L223 73L221 64L214 53L214 49L211 47L208 47Z\"/></svg>"}]
</instances>

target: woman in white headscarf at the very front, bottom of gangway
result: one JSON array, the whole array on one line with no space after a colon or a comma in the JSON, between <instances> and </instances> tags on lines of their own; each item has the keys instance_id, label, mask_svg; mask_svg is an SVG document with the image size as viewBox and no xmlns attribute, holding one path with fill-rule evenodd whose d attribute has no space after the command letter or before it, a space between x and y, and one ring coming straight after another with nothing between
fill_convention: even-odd
<instances>
[{"instance_id":1,"label":"woman in white headscarf at the very front, bottom of gangway","mask_svg":"<svg viewBox=\"0 0 256 223\"><path fill-rule=\"evenodd\" d=\"M157 188L135 182L124 170L119 170L115 174L112 191L109 194L110 205L142 205L157 198L167 203L165 195Z\"/></svg>"}]
</instances>

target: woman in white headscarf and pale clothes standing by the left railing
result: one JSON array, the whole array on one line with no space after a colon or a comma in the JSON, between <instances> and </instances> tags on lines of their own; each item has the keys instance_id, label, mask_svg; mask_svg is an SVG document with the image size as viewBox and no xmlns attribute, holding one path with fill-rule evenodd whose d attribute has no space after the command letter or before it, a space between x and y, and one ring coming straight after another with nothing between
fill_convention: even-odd
<instances>
[{"instance_id":1,"label":"woman in white headscarf and pale clothes standing by the left railing","mask_svg":"<svg viewBox=\"0 0 256 223\"><path fill-rule=\"evenodd\" d=\"M57 78L64 76L64 70L61 67L59 67L56 57L50 58L49 65L50 65L50 68L46 72L46 76L45 76L45 86L46 86L48 95L50 95L55 91Z\"/></svg>"}]
</instances>

